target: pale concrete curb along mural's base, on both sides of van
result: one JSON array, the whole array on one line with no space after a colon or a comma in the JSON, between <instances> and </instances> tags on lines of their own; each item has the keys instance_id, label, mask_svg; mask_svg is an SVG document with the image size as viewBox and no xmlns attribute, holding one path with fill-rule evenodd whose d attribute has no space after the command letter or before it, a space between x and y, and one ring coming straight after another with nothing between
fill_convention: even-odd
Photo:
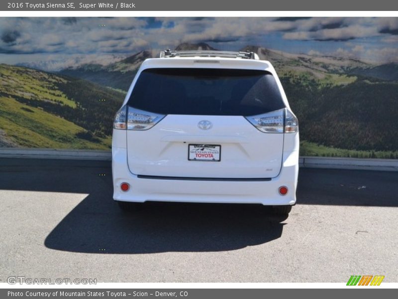
<instances>
[{"instance_id":1,"label":"pale concrete curb along mural's base, on both sides of van","mask_svg":"<svg viewBox=\"0 0 398 299\"><path fill-rule=\"evenodd\" d=\"M112 159L112 155L111 152L107 150L2 148L0 149L0 158L110 161ZM398 171L398 159L301 156L299 158L299 166L305 168Z\"/></svg>"}]
</instances>

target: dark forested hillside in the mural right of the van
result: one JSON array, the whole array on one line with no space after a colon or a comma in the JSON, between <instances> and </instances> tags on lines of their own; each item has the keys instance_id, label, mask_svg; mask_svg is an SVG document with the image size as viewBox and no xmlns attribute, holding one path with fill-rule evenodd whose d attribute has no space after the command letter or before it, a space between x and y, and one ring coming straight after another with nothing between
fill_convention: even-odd
<instances>
[{"instance_id":1,"label":"dark forested hillside in the mural right of the van","mask_svg":"<svg viewBox=\"0 0 398 299\"><path fill-rule=\"evenodd\" d=\"M300 139L309 142L302 144L303 154L398 157L398 82L358 78L322 86L288 76L282 84L299 119Z\"/></svg>"}]
</instances>

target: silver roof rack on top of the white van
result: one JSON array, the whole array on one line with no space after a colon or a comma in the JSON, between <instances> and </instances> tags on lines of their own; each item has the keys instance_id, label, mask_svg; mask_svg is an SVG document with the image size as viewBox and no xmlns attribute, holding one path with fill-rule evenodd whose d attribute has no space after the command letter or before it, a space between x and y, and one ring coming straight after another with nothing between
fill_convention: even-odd
<instances>
[{"instance_id":1,"label":"silver roof rack on top of the white van","mask_svg":"<svg viewBox=\"0 0 398 299\"><path fill-rule=\"evenodd\" d=\"M232 52L232 51L217 51L217 50L187 50L187 51L172 51L167 49L161 51L159 57L227 57L227 58L243 58L243 59L255 59L259 57L256 53L251 51L246 52Z\"/></svg>"}]
</instances>

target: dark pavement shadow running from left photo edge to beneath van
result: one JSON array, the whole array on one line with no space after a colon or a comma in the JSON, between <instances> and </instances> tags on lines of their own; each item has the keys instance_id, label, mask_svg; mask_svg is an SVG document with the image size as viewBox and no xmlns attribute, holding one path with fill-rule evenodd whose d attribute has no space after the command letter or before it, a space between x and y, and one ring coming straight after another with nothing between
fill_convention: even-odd
<instances>
[{"instance_id":1,"label":"dark pavement shadow running from left photo edge to beneath van","mask_svg":"<svg viewBox=\"0 0 398 299\"><path fill-rule=\"evenodd\" d=\"M0 163L0 189L89 194L44 240L54 250L102 254L237 250L280 238L286 219L250 204L149 202L140 211L125 213L112 199L110 162L5 160Z\"/></svg>"}]
</instances>

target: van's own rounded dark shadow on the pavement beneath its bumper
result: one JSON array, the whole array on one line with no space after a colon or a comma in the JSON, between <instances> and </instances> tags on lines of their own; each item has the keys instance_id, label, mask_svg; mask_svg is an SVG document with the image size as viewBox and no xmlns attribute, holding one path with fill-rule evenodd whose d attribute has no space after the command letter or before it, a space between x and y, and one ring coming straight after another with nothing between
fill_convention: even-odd
<instances>
[{"instance_id":1,"label":"van's own rounded dark shadow on the pavement beneath its bumper","mask_svg":"<svg viewBox=\"0 0 398 299\"><path fill-rule=\"evenodd\" d=\"M275 240L284 225L261 206L151 202L125 213L110 198L89 195L53 229L45 246L108 254L227 251Z\"/></svg>"}]
</instances>

